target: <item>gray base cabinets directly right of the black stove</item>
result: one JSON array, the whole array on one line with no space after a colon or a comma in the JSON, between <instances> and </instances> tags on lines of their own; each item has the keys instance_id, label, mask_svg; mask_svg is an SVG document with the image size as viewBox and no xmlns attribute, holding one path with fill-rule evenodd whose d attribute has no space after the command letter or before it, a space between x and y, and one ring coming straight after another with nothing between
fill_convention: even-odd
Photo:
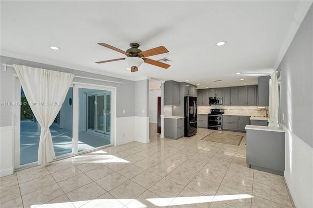
<instances>
[{"instance_id":1,"label":"gray base cabinets directly right of the black stove","mask_svg":"<svg viewBox=\"0 0 313 208\"><path fill-rule=\"evenodd\" d=\"M223 130L246 131L246 125L250 124L250 116L223 115Z\"/></svg>"}]
</instances>

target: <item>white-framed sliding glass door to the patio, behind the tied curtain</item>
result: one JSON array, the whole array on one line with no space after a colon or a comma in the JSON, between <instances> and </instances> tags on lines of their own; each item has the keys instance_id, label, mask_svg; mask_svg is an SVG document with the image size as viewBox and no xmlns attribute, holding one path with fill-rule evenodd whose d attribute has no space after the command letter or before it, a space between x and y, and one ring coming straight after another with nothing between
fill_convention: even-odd
<instances>
[{"instance_id":1,"label":"white-framed sliding glass door to the patio, behind the tied curtain","mask_svg":"<svg viewBox=\"0 0 313 208\"><path fill-rule=\"evenodd\" d=\"M38 161L41 126L33 115L18 78L14 81L14 166ZM84 87L79 87L84 86ZM107 90L106 90L107 89ZM112 88L71 85L61 110L49 127L57 159L111 145ZM74 113L75 112L75 113Z\"/></svg>"}]
</instances>

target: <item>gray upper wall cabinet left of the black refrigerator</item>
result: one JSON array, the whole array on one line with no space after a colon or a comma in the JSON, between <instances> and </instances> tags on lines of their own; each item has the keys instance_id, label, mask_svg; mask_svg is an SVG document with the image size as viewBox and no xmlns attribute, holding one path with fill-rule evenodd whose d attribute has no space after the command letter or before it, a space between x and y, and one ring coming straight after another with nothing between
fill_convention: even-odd
<instances>
[{"instance_id":1,"label":"gray upper wall cabinet left of the black refrigerator","mask_svg":"<svg viewBox=\"0 0 313 208\"><path fill-rule=\"evenodd\" d=\"M164 105L179 105L179 83L173 80L164 83Z\"/></svg>"}]
</instances>

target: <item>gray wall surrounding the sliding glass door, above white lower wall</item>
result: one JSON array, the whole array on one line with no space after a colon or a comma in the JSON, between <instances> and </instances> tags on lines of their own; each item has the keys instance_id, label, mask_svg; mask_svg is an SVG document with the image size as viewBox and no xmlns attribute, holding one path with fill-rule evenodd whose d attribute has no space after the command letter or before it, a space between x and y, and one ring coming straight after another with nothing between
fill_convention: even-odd
<instances>
[{"instance_id":1,"label":"gray wall surrounding the sliding glass door, above white lower wall","mask_svg":"<svg viewBox=\"0 0 313 208\"><path fill-rule=\"evenodd\" d=\"M93 74L83 71L78 71L74 69L63 68L59 66L53 66L38 62L30 62L10 57L0 56L1 59L1 70L0 70L0 102L11 102L12 101L12 83L13 83L13 74L16 74L13 67L7 67L7 71L3 70L2 63L6 64L20 64L26 65L31 67L38 67L38 68L45 68L51 69L55 71L63 71L72 73L76 76L82 77L89 77L89 78L96 78L96 79L103 79L103 80L110 80L116 82L122 82L120 86L117 83L110 83L110 82L102 82L102 81L94 81L94 80L87 80L82 78L74 78L74 82L81 82L81 83L92 83L92 84L99 84L104 86L114 86L116 87L116 117L128 117L135 115L135 82L130 80L124 80L120 78L114 78L99 74ZM125 113L123 114L123 110ZM12 106L8 105L0 105L0 126L11 126L12 125Z\"/></svg>"}]
</instances>

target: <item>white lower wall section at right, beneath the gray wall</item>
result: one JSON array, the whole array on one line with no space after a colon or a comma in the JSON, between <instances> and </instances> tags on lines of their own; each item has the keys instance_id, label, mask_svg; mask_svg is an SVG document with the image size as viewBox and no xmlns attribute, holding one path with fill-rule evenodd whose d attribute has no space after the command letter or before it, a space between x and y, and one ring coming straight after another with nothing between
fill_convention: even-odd
<instances>
[{"instance_id":1,"label":"white lower wall section at right, beneath the gray wall","mask_svg":"<svg viewBox=\"0 0 313 208\"><path fill-rule=\"evenodd\" d=\"M313 207L313 147L285 128L284 177L295 207Z\"/></svg>"}]
</instances>

